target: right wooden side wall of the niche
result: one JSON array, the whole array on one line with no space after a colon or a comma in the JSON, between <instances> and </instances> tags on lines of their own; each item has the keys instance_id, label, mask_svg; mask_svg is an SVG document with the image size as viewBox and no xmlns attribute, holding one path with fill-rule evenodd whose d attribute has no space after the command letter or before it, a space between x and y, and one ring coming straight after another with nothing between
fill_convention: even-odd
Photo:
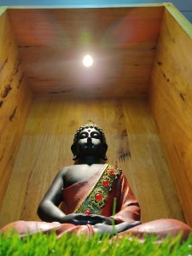
<instances>
[{"instance_id":1,"label":"right wooden side wall of the niche","mask_svg":"<svg viewBox=\"0 0 192 256\"><path fill-rule=\"evenodd\" d=\"M188 33L192 26L178 14L177 19L180 25L166 10L151 73L149 102L183 215L192 225L192 40ZM188 28L184 30L182 24Z\"/></svg>"}]
</instances>

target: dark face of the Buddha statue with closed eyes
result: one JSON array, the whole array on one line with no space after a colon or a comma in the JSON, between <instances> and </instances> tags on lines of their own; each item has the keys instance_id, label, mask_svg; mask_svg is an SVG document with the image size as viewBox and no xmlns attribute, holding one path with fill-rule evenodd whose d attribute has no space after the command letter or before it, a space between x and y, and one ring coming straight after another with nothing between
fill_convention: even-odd
<instances>
[{"instance_id":1,"label":"dark face of the Buddha statue with closed eyes","mask_svg":"<svg viewBox=\"0 0 192 256\"><path fill-rule=\"evenodd\" d=\"M77 143L79 153L99 154L102 147L102 136L95 128L80 131Z\"/></svg>"}]
</instances>

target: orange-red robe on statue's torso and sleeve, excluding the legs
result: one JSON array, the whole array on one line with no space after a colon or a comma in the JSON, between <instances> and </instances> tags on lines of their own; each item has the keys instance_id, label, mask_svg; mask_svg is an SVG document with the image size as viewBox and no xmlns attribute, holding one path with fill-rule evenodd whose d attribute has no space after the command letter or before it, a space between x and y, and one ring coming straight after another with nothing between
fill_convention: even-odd
<instances>
[{"instance_id":1,"label":"orange-red robe on statue's torso and sleeve, excluding the legs","mask_svg":"<svg viewBox=\"0 0 192 256\"><path fill-rule=\"evenodd\" d=\"M94 186L100 172L96 172L94 177L84 179L63 190L62 210L66 214L74 212L75 207ZM116 198L116 214L113 214L113 199ZM113 184L113 189L109 192L106 205L102 208L101 215L111 217L116 220L117 224L122 222L133 222L140 220L140 207L132 194L131 188L127 183L126 177L121 174Z\"/></svg>"}]
</instances>

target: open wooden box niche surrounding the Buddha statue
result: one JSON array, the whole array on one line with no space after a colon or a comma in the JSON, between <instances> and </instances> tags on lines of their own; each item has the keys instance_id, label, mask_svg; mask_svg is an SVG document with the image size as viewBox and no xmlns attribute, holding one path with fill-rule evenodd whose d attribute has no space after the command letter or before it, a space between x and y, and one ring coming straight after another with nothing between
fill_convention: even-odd
<instances>
[{"instance_id":1,"label":"open wooden box niche surrounding the Buddha statue","mask_svg":"<svg viewBox=\"0 0 192 256\"><path fill-rule=\"evenodd\" d=\"M89 119L105 131L108 162L125 172L142 221L192 225L191 35L171 3L0 10L0 227L38 220Z\"/></svg>"}]
</instances>

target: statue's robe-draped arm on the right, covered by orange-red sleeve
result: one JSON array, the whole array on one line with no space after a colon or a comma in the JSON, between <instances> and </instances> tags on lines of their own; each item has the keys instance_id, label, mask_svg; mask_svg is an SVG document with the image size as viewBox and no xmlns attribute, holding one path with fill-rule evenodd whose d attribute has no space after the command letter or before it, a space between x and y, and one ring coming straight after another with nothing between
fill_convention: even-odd
<instances>
[{"instance_id":1,"label":"statue's robe-draped arm on the right, covered by orange-red sleeve","mask_svg":"<svg viewBox=\"0 0 192 256\"><path fill-rule=\"evenodd\" d=\"M130 185L124 174L119 177L116 214L111 216L115 224L131 223L140 220L139 203L133 195Z\"/></svg>"}]
</instances>

